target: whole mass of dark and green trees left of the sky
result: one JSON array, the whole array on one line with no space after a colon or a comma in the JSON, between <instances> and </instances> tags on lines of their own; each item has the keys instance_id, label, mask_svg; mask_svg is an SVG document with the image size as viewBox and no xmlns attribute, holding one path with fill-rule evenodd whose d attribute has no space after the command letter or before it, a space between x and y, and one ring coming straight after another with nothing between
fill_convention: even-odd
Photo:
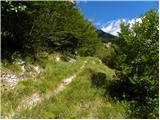
<instances>
[{"instance_id":1,"label":"whole mass of dark and green trees left of the sky","mask_svg":"<svg viewBox=\"0 0 160 120\"><path fill-rule=\"evenodd\" d=\"M100 45L95 27L72 2L3 1L2 23L2 58L16 51L87 56Z\"/></svg>"}]
</instances>

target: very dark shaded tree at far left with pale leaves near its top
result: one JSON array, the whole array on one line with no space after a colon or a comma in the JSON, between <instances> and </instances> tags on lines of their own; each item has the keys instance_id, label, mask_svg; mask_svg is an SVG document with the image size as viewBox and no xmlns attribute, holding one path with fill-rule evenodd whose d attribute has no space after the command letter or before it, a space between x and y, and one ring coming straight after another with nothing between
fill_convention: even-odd
<instances>
[{"instance_id":1,"label":"very dark shaded tree at far left with pale leaves near its top","mask_svg":"<svg viewBox=\"0 0 160 120\"><path fill-rule=\"evenodd\" d=\"M24 48L31 17L25 12L25 2L1 2L1 42L2 59L10 58L15 51Z\"/></svg>"}]
</instances>

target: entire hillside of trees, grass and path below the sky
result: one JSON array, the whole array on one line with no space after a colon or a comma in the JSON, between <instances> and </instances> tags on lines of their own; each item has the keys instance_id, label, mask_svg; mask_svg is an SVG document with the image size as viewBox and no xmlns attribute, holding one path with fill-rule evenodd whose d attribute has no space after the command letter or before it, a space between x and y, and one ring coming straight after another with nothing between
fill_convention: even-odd
<instances>
[{"instance_id":1,"label":"entire hillside of trees, grass and path below the sky","mask_svg":"<svg viewBox=\"0 0 160 120\"><path fill-rule=\"evenodd\" d=\"M158 118L159 16L97 30L69 1L1 1L1 118Z\"/></svg>"}]
</instances>

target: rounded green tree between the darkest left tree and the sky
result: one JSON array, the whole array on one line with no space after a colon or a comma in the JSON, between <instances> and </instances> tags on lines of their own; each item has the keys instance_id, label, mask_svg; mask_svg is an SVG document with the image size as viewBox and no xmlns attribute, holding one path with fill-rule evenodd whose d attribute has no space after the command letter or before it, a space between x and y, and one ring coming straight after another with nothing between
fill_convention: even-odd
<instances>
[{"instance_id":1,"label":"rounded green tree between the darkest left tree and the sky","mask_svg":"<svg viewBox=\"0 0 160 120\"><path fill-rule=\"evenodd\" d=\"M39 6L41 8L33 21L31 34L36 51L46 48L50 51L94 53L89 46L94 47L98 41L95 28L83 18L73 3L41 2ZM84 55L84 52L78 53Z\"/></svg>"}]
</instances>

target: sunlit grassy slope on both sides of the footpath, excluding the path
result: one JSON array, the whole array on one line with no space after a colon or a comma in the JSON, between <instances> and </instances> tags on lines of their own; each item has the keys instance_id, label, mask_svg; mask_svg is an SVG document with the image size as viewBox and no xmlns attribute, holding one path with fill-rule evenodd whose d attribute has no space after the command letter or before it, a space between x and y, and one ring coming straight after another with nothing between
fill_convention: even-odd
<instances>
[{"instance_id":1,"label":"sunlit grassy slope on both sides of the footpath, excluding the path","mask_svg":"<svg viewBox=\"0 0 160 120\"><path fill-rule=\"evenodd\" d=\"M88 61L84 69L60 93L51 95L49 99L44 99L33 108L22 107L19 111L15 110L27 96L38 93L43 97L48 91L56 89L63 78L79 71L84 61ZM22 81L12 91L2 92L2 116L15 112L11 118L127 117L126 103L114 102L108 95L103 96L105 89L102 89L100 83L111 82L114 70L104 66L99 59L85 57L78 58L75 62L53 62L53 59L50 59L47 63L45 74L35 78L36 81Z\"/></svg>"}]
</instances>

